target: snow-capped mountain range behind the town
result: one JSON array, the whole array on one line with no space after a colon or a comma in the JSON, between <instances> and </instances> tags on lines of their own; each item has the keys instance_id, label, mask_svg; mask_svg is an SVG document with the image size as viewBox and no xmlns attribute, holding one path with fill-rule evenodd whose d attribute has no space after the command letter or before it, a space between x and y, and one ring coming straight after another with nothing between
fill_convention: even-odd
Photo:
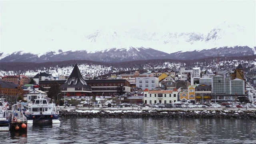
<instances>
[{"instance_id":1,"label":"snow-capped mountain range behind the town","mask_svg":"<svg viewBox=\"0 0 256 144\"><path fill-rule=\"evenodd\" d=\"M256 54L256 34L237 24L223 22L207 35L199 32L147 32L133 28L100 29L82 38L86 48L45 54L0 53L1 62L93 60L104 62L148 59L195 59ZM74 48L75 49L75 48ZM198 56L197 56L198 55Z\"/></svg>"}]
</instances>

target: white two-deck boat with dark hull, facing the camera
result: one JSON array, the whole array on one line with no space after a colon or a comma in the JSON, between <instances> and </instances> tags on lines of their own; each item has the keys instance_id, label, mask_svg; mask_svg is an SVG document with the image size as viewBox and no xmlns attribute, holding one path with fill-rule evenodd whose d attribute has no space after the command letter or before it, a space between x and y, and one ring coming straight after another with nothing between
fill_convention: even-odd
<instances>
[{"instance_id":1,"label":"white two-deck boat with dark hull, facing the camera","mask_svg":"<svg viewBox=\"0 0 256 144\"><path fill-rule=\"evenodd\" d=\"M34 100L34 103L28 102L28 109L25 111L25 116L28 119L28 124L36 122L52 122L53 124L60 123L59 111L56 110L54 103L49 103L46 98Z\"/></svg>"}]
</instances>

